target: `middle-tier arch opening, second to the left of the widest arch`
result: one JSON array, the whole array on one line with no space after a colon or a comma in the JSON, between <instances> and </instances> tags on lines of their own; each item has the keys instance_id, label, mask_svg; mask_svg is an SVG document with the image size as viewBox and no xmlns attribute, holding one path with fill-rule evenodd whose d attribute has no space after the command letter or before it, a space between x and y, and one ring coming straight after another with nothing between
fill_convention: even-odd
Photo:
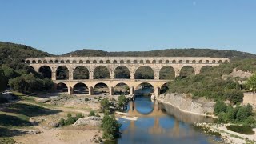
<instances>
[{"instance_id":1,"label":"middle-tier arch opening, second to the left of the widest arch","mask_svg":"<svg viewBox=\"0 0 256 144\"><path fill-rule=\"evenodd\" d=\"M94 69L94 79L110 78L110 70L106 66L97 66Z\"/></svg>"}]
</instances>

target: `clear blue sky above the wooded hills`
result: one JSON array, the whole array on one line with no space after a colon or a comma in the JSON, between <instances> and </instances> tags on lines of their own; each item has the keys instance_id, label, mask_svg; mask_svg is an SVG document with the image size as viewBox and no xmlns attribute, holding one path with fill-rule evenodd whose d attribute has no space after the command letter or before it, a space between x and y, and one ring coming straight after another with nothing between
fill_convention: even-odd
<instances>
[{"instance_id":1,"label":"clear blue sky above the wooded hills","mask_svg":"<svg viewBox=\"0 0 256 144\"><path fill-rule=\"evenodd\" d=\"M170 48L256 54L256 0L0 0L0 41L51 54Z\"/></svg>"}]
</instances>

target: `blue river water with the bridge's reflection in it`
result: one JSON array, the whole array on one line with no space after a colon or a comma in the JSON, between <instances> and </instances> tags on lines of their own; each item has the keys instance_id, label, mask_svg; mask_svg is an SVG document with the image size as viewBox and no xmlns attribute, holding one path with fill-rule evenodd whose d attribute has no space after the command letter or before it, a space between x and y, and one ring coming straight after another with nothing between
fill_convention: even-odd
<instances>
[{"instance_id":1,"label":"blue river water with the bridge's reflection in it","mask_svg":"<svg viewBox=\"0 0 256 144\"><path fill-rule=\"evenodd\" d=\"M138 120L119 118L122 138L118 143L211 143L217 138L202 134L191 125L194 122L213 122L213 119L182 113L177 108L150 102L146 98L130 102L127 113Z\"/></svg>"}]
</instances>

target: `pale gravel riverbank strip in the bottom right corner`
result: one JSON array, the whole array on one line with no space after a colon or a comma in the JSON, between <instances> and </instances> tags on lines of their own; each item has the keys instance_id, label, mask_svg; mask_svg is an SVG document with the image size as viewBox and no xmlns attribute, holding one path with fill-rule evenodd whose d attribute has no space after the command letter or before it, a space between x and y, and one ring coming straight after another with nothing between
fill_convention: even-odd
<instances>
[{"instance_id":1,"label":"pale gravel riverbank strip in the bottom right corner","mask_svg":"<svg viewBox=\"0 0 256 144\"><path fill-rule=\"evenodd\" d=\"M222 139L226 143L256 143L256 128L253 129L254 134L240 134L231 130L228 130L226 126L230 124L216 124L216 123L195 123L195 126L202 127L206 133L214 132L221 135Z\"/></svg>"}]
</instances>

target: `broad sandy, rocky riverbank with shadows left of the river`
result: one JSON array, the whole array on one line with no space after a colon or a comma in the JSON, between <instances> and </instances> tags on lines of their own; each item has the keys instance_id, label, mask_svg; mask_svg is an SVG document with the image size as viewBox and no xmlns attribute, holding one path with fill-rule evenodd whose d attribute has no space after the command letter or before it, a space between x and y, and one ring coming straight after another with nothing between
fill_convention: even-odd
<instances>
[{"instance_id":1,"label":"broad sandy, rocky riverbank with shadows left of the river","mask_svg":"<svg viewBox=\"0 0 256 144\"><path fill-rule=\"evenodd\" d=\"M58 126L67 114L88 118L91 110L98 114L102 98L117 102L118 97L84 94L18 94L18 100L0 105L0 142L10 138L18 143L98 143L102 130L94 123ZM103 117L103 114L99 114ZM8 142L10 143L10 142Z\"/></svg>"}]
</instances>

